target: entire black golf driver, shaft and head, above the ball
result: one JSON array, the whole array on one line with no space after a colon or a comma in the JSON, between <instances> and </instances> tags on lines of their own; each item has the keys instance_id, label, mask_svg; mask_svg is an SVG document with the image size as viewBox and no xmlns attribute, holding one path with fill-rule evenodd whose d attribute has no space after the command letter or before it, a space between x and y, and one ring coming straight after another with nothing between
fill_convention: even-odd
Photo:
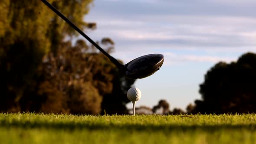
<instances>
[{"instance_id":1,"label":"entire black golf driver, shaft and head, above the ball","mask_svg":"<svg viewBox=\"0 0 256 144\"><path fill-rule=\"evenodd\" d=\"M80 33L85 39L87 39L93 46L100 50L105 56L114 63L118 69L127 77L128 79L142 79L154 74L160 69L164 63L164 56L162 54L149 54L145 56L140 56L125 65L118 62L117 59L110 56L104 51L98 44L96 44L92 39L89 38L85 33L82 32L75 24L73 24L66 16L64 16L59 10L57 10L53 5L51 5L47 0L41 0L47 7L49 7L53 12L60 16L66 21L72 28L74 28L78 33Z\"/></svg>"}]
</instances>

